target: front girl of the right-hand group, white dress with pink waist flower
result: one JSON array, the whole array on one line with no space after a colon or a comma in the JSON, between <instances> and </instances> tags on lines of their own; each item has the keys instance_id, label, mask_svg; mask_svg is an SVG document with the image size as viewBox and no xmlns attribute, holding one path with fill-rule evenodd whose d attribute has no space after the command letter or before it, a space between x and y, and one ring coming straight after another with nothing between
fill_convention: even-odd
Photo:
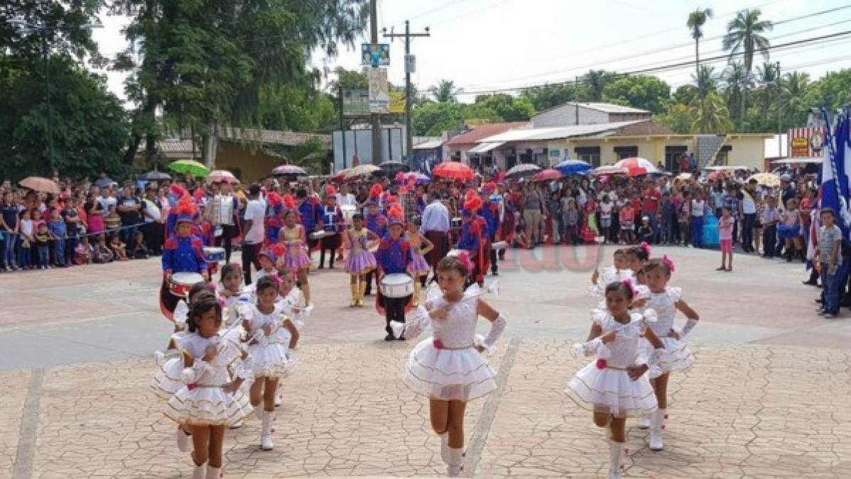
<instances>
[{"instance_id":1,"label":"front girl of the right-hand group, white dress with pink waist flower","mask_svg":"<svg viewBox=\"0 0 851 479\"><path fill-rule=\"evenodd\" d=\"M652 311L631 313L631 282L614 282L606 287L606 311L591 311L588 342L574 345L574 354L597 356L568 382L565 392L574 402L593 411L594 424L608 427L609 479L620 479L620 457L626 442L626 417L649 413L656 408L656 396L648 375L648 355L639 355L642 337L655 347L662 342L648 328Z\"/></svg>"}]
</instances>

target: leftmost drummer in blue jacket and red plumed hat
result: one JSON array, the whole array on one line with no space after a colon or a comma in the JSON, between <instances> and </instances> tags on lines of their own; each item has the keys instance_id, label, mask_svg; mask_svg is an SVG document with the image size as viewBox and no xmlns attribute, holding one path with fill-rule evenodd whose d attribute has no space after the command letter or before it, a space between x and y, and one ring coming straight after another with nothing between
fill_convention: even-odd
<instances>
[{"instance_id":1,"label":"leftmost drummer in blue jacket and red plumed hat","mask_svg":"<svg viewBox=\"0 0 851 479\"><path fill-rule=\"evenodd\" d=\"M174 236L165 241L163 248L163 286L160 288L160 311L169 320L174 320L174 308L180 297L171 293L169 280L176 273L197 273L209 281L207 260L204 259L201 238L191 234L197 215L197 207L188 195L181 198L175 214Z\"/></svg>"}]
</instances>

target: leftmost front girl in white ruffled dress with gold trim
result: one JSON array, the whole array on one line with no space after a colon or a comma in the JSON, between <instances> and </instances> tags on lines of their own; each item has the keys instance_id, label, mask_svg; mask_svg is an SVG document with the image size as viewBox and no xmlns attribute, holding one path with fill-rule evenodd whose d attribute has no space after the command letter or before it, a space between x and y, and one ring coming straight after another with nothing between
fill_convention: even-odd
<instances>
[{"instance_id":1,"label":"leftmost front girl in white ruffled dress with gold trim","mask_svg":"<svg viewBox=\"0 0 851 479\"><path fill-rule=\"evenodd\" d=\"M186 366L181 374L185 385L168 400L165 415L191 428L193 479L221 476L225 427L251 413L248 397L239 391L251 374L250 356L220 337L221 322L214 294L198 294L186 321L188 333L177 341ZM228 368L237 371L236 379L231 381Z\"/></svg>"}]
</instances>

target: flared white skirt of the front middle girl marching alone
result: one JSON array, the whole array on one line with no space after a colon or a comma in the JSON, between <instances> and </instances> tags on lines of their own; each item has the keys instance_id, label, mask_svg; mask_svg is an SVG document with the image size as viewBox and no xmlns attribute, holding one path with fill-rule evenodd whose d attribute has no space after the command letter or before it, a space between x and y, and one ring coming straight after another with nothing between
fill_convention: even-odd
<instances>
[{"instance_id":1,"label":"flared white skirt of the front middle girl marching alone","mask_svg":"<svg viewBox=\"0 0 851 479\"><path fill-rule=\"evenodd\" d=\"M411 391L444 401L470 401L496 389L496 371L475 348L437 349L420 341L408 357L404 382Z\"/></svg>"}]
</instances>

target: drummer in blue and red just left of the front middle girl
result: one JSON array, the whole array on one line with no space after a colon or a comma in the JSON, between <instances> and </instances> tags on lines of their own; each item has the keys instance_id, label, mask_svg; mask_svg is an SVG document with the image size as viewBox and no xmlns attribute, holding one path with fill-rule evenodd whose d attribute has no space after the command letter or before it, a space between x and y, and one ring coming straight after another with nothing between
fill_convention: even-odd
<instances>
[{"instance_id":1,"label":"drummer in blue and red just left of the front middle girl","mask_svg":"<svg viewBox=\"0 0 851 479\"><path fill-rule=\"evenodd\" d=\"M408 274L410 275L410 267L413 258L411 256L411 245L402 237L404 231L404 214L402 207L398 204L393 204L388 212L390 214L390 226L385 238L381 240L378 247L378 252L375 254L375 262L378 266L379 283L381 278L392 274ZM412 280L413 285L413 280ZM404 336L398 338L393 335L393 330L390 327L391 321L405 322L405 311L408 311L413 305L414 295L409 294L404 298L386 298L381 294L379 288L378 298L375 300L375 309L383 313L386 320L385 331L387 332L386 341L393 339L405 339Z\"/></svg>"}]
</instances>

